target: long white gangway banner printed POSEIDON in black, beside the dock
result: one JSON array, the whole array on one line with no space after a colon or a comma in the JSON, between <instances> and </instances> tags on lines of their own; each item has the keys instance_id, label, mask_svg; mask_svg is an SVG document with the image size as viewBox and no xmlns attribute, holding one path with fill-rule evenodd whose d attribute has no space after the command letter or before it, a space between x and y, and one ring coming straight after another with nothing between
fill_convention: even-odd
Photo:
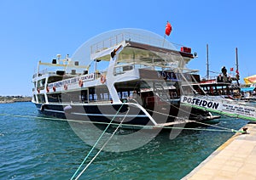
<instances>
[{"instance_id":1,"label":"long white gangway banner printed POSEIDON in black, beside the dock","mask_svg":"<svg viewBox=\"0 0 256 180\"><path fill-rule=\"evenodd\" d=\"M181 103L222 115L230 115L241 119L256 121L256 106L239 104L239 101L220 97L182 96Z\"/></svg>"}]
</instances>

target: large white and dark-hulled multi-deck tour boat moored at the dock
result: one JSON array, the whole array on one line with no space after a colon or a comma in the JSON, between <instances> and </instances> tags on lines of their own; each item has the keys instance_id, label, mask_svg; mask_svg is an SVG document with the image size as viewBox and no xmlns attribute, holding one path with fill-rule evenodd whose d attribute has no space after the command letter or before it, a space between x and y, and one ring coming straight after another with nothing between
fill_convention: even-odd
<instances>
[{"instance_id":1,"label":"large white and dark-hulled multi-deck tour boat moored at the dock","mask_svg":"<svg viewBox=\"0 0 256 180\"><path fill-rule=\"evenodd\" d=\"M195 57L149 31L110 31L72 57L39 61L32 103L44 115L73 121L154 127L210 121L219 116L180 104L180 87L200 82L198 70L186 66Z\"/></svg>"}]
</instances>

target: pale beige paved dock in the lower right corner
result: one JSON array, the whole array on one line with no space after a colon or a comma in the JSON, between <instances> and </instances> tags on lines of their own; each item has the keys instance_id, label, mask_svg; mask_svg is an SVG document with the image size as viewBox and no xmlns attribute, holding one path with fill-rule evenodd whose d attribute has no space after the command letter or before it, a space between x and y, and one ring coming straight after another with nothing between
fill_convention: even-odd
<instances>
[{"instance_id":1,"label":"pale beige paved dock in the lower right corner","mask_svg":"<svg viewBox=\"0 0 256 180\"><path fill-rule=\"evenodd\" d=\"M236 133L183 180L256 180L256 123L248 123L247 128L247 133Z\"/></svg>"}]
</instances>

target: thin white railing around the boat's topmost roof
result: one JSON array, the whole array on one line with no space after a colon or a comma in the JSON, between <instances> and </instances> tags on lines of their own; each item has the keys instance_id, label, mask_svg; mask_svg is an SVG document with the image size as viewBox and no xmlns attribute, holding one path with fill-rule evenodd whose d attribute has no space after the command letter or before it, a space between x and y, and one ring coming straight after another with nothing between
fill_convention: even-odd
<instances>
[{"instance_id":1,"label":"thin white railing around the boat's topmost roof","mask_svg":"<svg viewBox=\"0 0 256 180\"><path fill-rule=\"evenodd\" d=\"M101 42L96 42L95 44L91 45L90 54L98 53L98 52L101 52L102 50L112 48L118 45L120 42L124 42L124 41L140 42L143 44L148 44L148 45L152 45L160 48L168 48L176 51L181 51L181 49L183 48L183 45L181 44L165 42L166 39L162 37L155 38L155 37L149 37L149 35L141 36L135 33L125 32L125 33L120 33L118 35L115 35L113 37L109 37Z\"/></svg>"}]
</instances>

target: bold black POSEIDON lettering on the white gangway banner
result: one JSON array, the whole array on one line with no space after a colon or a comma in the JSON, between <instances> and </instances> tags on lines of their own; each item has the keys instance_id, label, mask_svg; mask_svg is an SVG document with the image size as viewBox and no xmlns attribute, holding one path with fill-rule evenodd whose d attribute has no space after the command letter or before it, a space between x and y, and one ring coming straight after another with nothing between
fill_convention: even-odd
<instances>
[{"instance_id":1,"label":"bold black POSEIDON lettering on the white gangway banner","mask_svg":"<svg viewBox=\"0 0 256 180\"><path fill-rule=\"evenodd\" d=\"M198 106L212 108L215 110L218 109L218 105L219 105L218 103L215 103L212 101L207 101L207 100L203 100L200 98L190 98L190 97L186 97L186 96L183 96L183 103L195 104Z\"/></svg>"}]
</instances>

